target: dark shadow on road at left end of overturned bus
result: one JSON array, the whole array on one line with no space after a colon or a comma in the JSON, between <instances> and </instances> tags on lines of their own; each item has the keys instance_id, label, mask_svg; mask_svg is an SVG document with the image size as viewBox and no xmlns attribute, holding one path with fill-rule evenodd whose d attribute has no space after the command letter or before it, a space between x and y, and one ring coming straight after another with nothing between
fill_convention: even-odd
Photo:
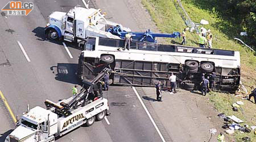
<instances>
[{"instance_id":1,"label":"dark shadow on road at left end of overturned bus","mask_svg":"<svg viewBox=\"0 0 256 142\"><path fill-rule=\"evenodd\" d=\"M58 63L57 66L51 66L52 73L56 73L55 80L81 85L76 76L77 64Z\"/></svg>"}]
</instances>

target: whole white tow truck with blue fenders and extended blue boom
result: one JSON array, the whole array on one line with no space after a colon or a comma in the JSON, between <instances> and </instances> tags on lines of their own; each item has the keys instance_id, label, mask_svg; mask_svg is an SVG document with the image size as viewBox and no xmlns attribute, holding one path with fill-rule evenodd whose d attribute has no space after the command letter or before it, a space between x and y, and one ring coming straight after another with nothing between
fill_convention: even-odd
<instances>
[{"instance_id":1,"label":"whole white tow truck with blue fenders and extended blue boom","mask_svg":"<svg viewBox=\"0 0 256 142\"><path fill-rule=\"evenodd\" d=\"M88 36L100 36L110 39L124 39L127 33L135 41L156 43L156 37L180 37L179 32L173 34L158 34L150 32L131 32L130 28L105 19L106 13L101 14L101 9L79 5L68 12L55 11L49 15L49 23L44 28L47 39L81 43Z\"/></svg>"}]
</instances>

